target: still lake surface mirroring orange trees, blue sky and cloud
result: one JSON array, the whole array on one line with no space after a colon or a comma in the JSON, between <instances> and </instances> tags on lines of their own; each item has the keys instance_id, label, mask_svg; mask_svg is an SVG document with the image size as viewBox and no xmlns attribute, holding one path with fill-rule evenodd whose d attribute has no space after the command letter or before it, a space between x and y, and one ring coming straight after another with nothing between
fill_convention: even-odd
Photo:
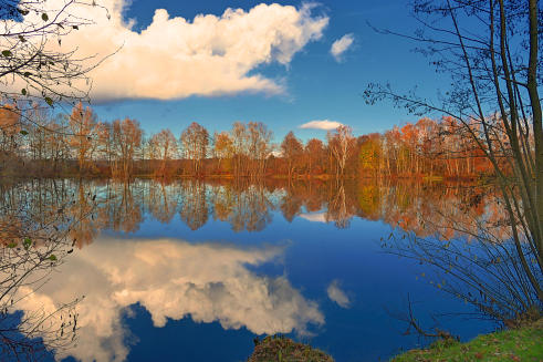
<instances>
[{"instance_id":1,"label":"still lake surface mirroring orange trees, blue sky and cloud","mask_svg":"<svg viewBox=\"0 0 543 362\"><path fill-rule=\"evenodd\" d=\"M471 307L382 242L438 229L461 239L451 224L497 213L483 187L42 179L0 190L4 214L32 215L27 223L62 214L73 245L40 282L19 288L24 298L9 309L11 320L30 323L27 316L76 300L75 339L53 341L64 338L61 318L31 334L51 345L43 352L51 361L244 361L255 337L275 333L336 361L386 361L428 342L395 317L408 294L428 328L470 339L495 327L457 316Z\"/></svg>"}]
</instances>

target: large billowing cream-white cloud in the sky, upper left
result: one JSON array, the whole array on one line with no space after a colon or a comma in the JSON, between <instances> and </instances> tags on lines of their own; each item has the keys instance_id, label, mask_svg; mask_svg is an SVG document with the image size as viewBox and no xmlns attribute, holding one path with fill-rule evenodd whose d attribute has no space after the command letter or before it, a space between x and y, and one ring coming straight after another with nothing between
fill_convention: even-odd
<instances>
[{"instance_id":1,"label":"large billowing cream-white cloud in the sky, upper left","mask_svg":"<svg viewBox=\"0 0 543 362\"><path fill-rule=\"evenodd\" d=\"M63 2L51 0L45 6L58 9ZM248 11L227 9L219 17L199 14L191 20L157 9L152 23L138 33L133 30L135 21L123 20L128 0L101 0L100 4L108 9L109 19L102 8L73 6L73 14L95 24L73 31L60 46L56 38L49 44L54 50L77 49L77 58L97 54L94 62L117 51L90 73L95 102L283 93L281 80L255 70L273 62L288 65L309 42L321 39L328 23L326 15L312 14L311 4L261 3Z\"/></svg>"}]
</instances>

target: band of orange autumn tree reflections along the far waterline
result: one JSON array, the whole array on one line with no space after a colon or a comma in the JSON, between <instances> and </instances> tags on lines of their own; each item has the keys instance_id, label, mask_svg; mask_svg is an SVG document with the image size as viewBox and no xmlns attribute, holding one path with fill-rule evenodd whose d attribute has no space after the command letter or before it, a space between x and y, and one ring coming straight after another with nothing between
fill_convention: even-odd
<instances>
[{"instance_id":1,"label":"band of orange autumn tree reflections along the far waterline","mask_svg":"<svg viewBox=\"0 0 543 362\"><path fill-rule=\"evenodd\" d=\"M59 193L59 188L63 192ZM21 188L20 188L21 189ZM0 204L13 203L12 190L0 190ZM504 235L500 201L492 187L462 184L422 183L203 183L184 180L170 184L136 180L132 184L112 182L42 180L25 185L32 199L27 207L45 215L44 208L59 207L72 194L76 203L66 213L81 217L92 211L72 230L81 248L92 242L101 229L134 232L148 214L168 224L176 215L191 230L205 226L210 218L228 223L234 231L261 231L278 210L292 223L300 217L307 221L331 223L348 228L354 217L382 220L418 236L436 232L452 238L457 231L476 232L476 224L488 223L494 235ZM90 195L102 200L93 211ZM6 225L17 225L2 216Z\"/></svg>"}]
</instances>

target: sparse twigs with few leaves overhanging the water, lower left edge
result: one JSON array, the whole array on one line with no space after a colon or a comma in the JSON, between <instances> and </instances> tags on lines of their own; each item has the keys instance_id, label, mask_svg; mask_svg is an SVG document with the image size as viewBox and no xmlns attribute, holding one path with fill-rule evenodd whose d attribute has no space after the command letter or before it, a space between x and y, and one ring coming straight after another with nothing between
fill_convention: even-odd
<instances>
[{"instance_id":1,"label":"sparse twigs with few leaves overhanging the water, lower left edge","mask_svg":"<svg viewBox=\"0 0 543 362\"><path fill-rule=\"evenodd\" d=\"M30 361L73 345L79 297L54 306L28 308L44 288L76 238L91 240L86 219L95 197L75 196L64 180L0 184L0 354L2 360ZM24 310L24 313L17 313Z\"/></svg>"}]
</instances>

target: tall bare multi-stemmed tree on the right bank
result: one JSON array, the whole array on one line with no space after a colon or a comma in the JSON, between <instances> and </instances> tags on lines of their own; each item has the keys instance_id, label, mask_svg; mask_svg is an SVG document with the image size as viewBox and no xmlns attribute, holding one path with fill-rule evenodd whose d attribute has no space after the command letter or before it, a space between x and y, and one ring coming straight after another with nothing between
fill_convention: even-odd
<instances>
[{"instance_id":1,"label":"tall bare multi-stemmed tree on the right bank","mask_svg":"<svg viewBox=\"0 0 543 362\"><path fill-rule=\"evenodd\" d=\"M534 306L541 309L543 131L539 86L543 60L539 54L543 11L537 0L416 0L413 10L422 25L420 31L413 35L382 32L425 44L420 51L451 76L451 89L432 102L414 92L399 94L390 85L369 84L366 100L391 99L410 112L439 112L462 125L463 134L492 164L501 189L510 228L502 242L512 246L505 252L509 273L504 282L515 289L522 288L518 280L528 281L529 289L522 290L522 302L516 304L520 312ZM493 239L480 238L481 252L497 251L499 245L487 242Z\"/></svg>"}]
</instances>

